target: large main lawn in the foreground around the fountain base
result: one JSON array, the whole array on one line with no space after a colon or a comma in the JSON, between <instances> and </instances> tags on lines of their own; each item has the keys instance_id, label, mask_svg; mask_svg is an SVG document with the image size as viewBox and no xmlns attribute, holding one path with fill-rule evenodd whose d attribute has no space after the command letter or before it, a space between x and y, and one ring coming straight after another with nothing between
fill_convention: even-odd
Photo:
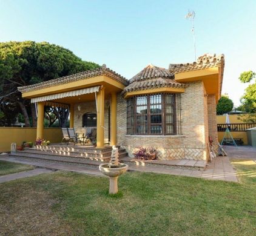
<instances>
[{"instance_id":1,"label":"large main lawn in the foreground around the fountain base","mask_svg":"<svg viewBox=\"0 0 256 236\"><path fill-rule=\"evenodd\" d=\"M255 235L256 163L241 183L127 172L120 193L104 177L55 172L0 185L2 234ZM244 165L245 164L245 165ZM249 174L248 174L249 173Z\"/></svg>"}]
</instances>

